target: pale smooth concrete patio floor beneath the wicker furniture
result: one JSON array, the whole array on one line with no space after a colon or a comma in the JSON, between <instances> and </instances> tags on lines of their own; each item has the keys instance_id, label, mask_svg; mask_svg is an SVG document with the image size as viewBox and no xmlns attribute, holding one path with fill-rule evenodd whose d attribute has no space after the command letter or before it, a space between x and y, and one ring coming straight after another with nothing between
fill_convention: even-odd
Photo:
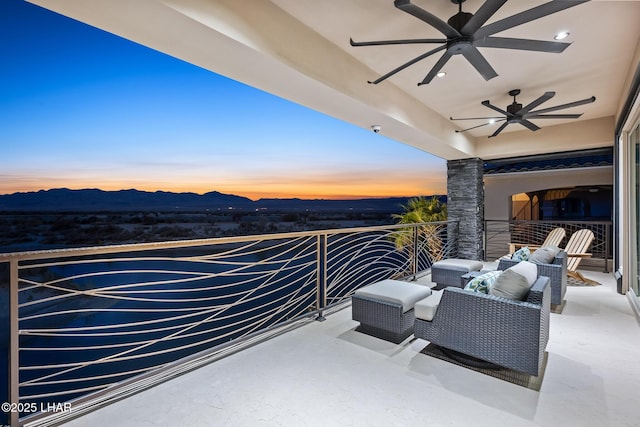
<instances>
[{"instance_id":1,"label":"pale smooth concrete patio floor beneath the wicker furniture","mask_svg":"<svg viewBox=\"0 0 640 427\"><path fill-rule=\"evenodd\" d=\"M611 274L551 315L539 392L355 331L347 307L65 426L638 426L640 326Z\"/></svg>"}]
</instances>

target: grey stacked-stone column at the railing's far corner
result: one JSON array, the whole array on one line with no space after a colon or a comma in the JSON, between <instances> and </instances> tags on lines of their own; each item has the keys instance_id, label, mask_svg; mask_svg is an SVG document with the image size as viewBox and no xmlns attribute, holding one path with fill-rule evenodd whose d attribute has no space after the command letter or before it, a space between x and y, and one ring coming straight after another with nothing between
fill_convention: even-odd
<instances>
[{"instance_id":1,"label":"grey stacked-stone column at the railing's far corner","mask_svg":"<svg viewBox=\"0 0 640 427\"><path fill-rule=\"evenodd\" d=\"M479 158L447 161L447 214L460 221L459 258L483 259L483 166Z\"/></svg>"}]
</instances>

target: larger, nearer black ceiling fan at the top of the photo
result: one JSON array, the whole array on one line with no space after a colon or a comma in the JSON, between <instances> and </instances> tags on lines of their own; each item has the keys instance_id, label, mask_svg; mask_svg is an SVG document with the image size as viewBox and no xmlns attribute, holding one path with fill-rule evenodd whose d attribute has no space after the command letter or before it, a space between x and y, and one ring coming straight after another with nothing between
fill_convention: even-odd
<instances>
[{"instance_id":1,"label":"larger, nearer black ceiling fan at the top of the photo","mask_svg":"<svg viewBox=\"0 0 640 427\"><path fill-rule=\"evenodd\" d=\"M403 12L415 16L421 21L431 25L436 30L440 31L446 36L446 38L438 39L408 39L408 40L381 40L381 41L369 41L369 42L356 42L350 39L351 46L381 46L381 45L402 45L402 44L422 44L422 43L434 43L441 44L441 46L430 50L409 62L402 64L401 66L391 70L387 74L379 77L374 81L369 81L372 84L378 84L383 80L393 76L399 71L413 65L437 52L445 51L440 57L438 62L433 66L431 71L425 76L422 82L418 83L418 86L427 84L436 76L436 74L442 69L447 61L453 55L464 56L473 67L484 77L485 80L492 79L498 74L491 67L489 62L482 56L479 47L493 47L501 49L516 49L516 50L532 50L537 52L551 52L560 53L564 51L570 43L563 43L557 41L543 41L543 40L528 40L517 39L508 37L490 37L493 34L499 33L509 28L516 27L518 25L525 24L535 19L543 18L552 13L559 12L564 9L568 9L573 6L577 6L581 3L586 3L589 0L556 0L534 7L532 9L525 10L524 12L517 13L508 18L501 19L493 22L489 25L483 26L491 16L493 16L500 7L502 7L507 0L486 0L484 4L478 9L476 14L463 12L462 3L466 0L451 0L452 3L458 5L458 13L453 15L447 22L444 22L440 18L427 12L423 8L412 4L410 0L395 0L394 6Z\"/></svg>"}]
</instances>

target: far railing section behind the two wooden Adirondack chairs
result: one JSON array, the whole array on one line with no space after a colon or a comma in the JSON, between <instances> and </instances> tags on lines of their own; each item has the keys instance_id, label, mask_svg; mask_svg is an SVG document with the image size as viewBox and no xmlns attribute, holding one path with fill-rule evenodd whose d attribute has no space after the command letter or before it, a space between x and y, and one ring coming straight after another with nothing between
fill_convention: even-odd
<instances>
[{"instance_id":1,"label":"far railing section behind the two wooden Adirondack chairs","mask_svg":"<svg viewBox=\"0 0 640 427\"><path fill-rule=\"evenodd\" d=\"M497 259L508 253L509 243L540 245L556 227L566 231L560 247L564 247L576 231L593 231L594 239L589 252L592 259L602 260L605 271L612 257L612 223L610 221L485 221L485 259Z\"/></svg>"}]
</instances>

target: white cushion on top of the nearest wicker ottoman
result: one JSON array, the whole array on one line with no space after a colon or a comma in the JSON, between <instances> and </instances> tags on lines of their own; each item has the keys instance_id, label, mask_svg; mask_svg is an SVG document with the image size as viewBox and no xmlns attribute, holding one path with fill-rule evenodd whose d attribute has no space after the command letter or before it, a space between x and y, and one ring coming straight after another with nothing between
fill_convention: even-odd
<instances>
[{"instance_id":1,"label":"white cushion on top of the nearest wicker ottoman","mask_svg":"<svg viewBox=\"0 0 640 427\"><path fill-rule=\"evenodd\" d=\"M355 294L364 298L377 299L402 306L402 312L413 308L416 301L431 295L431 288L426 285L418 285L401 280L383 280L362 287Z\"/></svg>"}]
</instances>

